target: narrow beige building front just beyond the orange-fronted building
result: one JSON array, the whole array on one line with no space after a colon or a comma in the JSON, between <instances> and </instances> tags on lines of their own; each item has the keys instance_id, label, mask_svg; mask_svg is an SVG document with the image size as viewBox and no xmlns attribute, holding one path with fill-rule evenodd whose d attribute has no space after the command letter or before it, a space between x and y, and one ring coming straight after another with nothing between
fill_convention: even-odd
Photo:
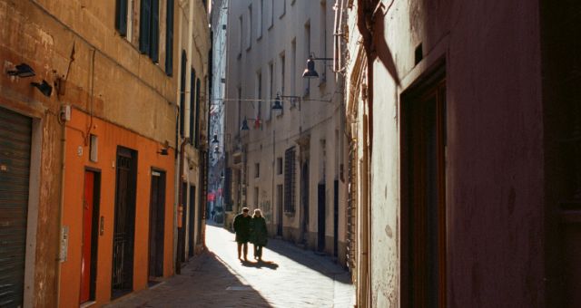
<instances>
[{"instance_id":1,"label":"narrow beige building front just beyond the orange-fronted building","mask_svg":"<svg viewBox=\"0 0 581 308\"><path fill-rule=\"evenodd\" d=\"M175 140L177 255L179 263L200 253L204 243L208 175L208 98L210 78L209 8L205 1L180 1L178 10L180 102ZM176 58L178 59L178 58ZM179 273L179 269L178 269Z\"/></svg>"}]
</instances>

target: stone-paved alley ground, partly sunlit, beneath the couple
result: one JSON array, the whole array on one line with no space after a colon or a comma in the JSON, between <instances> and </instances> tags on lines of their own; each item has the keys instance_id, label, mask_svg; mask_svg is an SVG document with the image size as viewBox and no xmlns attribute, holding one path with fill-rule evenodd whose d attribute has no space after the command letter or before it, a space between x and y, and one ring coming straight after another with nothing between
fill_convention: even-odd
<instances>
[{"instance_id":1,"label":"stone-paved alley ground, partly sunlit, beneath the couple","mask_svg":"<svg viewBox=\"0 0 581 308\"><path fill-rule=\"evenodd\" d=\"M107 307L353 307L350 274L329 257L269 239L262 263L238 260L234 235L207 225L208 251L182 274ZM252 261L250 261L252 260Z\"/></svg>"}]
</instances>

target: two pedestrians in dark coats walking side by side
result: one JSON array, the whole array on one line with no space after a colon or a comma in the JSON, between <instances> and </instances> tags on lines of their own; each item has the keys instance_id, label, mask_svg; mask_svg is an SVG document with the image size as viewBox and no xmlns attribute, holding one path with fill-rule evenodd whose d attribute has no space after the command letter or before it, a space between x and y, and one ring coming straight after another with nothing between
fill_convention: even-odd
<instances>
[{"instance_id":1,"label":"two pedestrians in dark coats walking side by side","mask_svg":"<svg viewBox=\"0 0 581 308\"><path fill-rule=\"evenodd\" d=\"M266 220L260 209L254 210L253 217L250 217L249 211L248 207L242 207L242 213L234 217L238 258L242 260L243 250L244 261L248 261L248 242L251 242L254 244L254 258L262 261L262 247L268 243Z\"/></svg>"}]
</instances>

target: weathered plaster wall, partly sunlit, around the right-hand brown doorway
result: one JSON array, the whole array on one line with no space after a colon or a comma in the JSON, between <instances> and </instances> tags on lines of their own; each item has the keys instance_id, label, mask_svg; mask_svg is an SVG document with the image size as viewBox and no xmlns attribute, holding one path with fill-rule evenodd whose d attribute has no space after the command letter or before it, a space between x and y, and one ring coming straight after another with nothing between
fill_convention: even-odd
<instances>
[{"instance_id":1,"label":"weathered plaster wall, partly sunlit, around the right-hand brown doorway","mask_svg":"<svg viewBox=\"0 0 581 308\"><path fill-rule=\"evenodd\" d=\"M350 10L350 34L358 32L356 15L357 7ZM537 16L537 2L530 1L395 1L376 13L368 72L373 80L364 94L373 100L367 234L373 306L401 304L400 95L442 61L447 86L447 305L542 305ZM361 48L359 38L350 36L353 61ZM416 63L420 43L422 59Z\"/></svg>"}]
</instances>

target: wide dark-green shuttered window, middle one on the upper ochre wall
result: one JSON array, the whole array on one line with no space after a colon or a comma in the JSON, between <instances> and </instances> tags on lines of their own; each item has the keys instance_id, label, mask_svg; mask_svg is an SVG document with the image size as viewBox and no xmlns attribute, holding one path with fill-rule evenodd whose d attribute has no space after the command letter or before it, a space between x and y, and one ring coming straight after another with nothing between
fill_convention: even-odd
<instances>
[{"instance_id":1,"label":"wide dark-green shuttered window, middle one on the upper ochre wall","mask_svg":"<svg viewBox=\"0 0 581 308\"><path fill-rule=\"evenodd\" d=\"M139 50L149 55L154 63L159 61L159 0L142 0L139 28Z\"/></svg>"}]
</instances>

